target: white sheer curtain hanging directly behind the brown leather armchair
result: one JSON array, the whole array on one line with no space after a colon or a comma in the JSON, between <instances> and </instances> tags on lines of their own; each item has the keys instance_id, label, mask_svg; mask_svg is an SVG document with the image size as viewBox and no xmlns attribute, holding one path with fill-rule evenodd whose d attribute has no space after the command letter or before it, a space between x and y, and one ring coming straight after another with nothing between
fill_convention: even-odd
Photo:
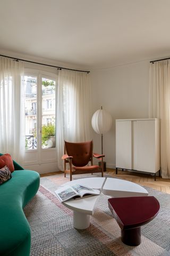
<instances>
[{"instance_id":1,"label":"white sheer curtain hanging directly behind the brown leather armchair","mask_svg":"<svg viewBox=\"0 0 170 256\"><path fill-rule=\"evenodd\" d=\"M89 74L60 70L58 74L58 107L56 122L58 168L63 170L61 157L64 140L91 140Z\"/></svg>"}]
</instances>

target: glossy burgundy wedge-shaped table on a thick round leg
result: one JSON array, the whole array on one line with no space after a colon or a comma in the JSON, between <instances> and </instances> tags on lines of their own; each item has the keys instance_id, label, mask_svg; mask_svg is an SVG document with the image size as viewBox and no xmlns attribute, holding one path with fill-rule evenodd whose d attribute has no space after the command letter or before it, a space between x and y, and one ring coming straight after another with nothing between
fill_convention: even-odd
<instances>
[{"instance_id":1,"label":"glossy burgundy wedge-shaped table on a thick round leg","mask_svg":"<svg viewBox=\"0 0 170 256\"><path fill-rule=\"evenodd\" d=\"M160 205L154 196L120 197L108 199L108 207L121 228L124 244L141 243L141 226L158 214Z\"/></svg>"}]
</instances>

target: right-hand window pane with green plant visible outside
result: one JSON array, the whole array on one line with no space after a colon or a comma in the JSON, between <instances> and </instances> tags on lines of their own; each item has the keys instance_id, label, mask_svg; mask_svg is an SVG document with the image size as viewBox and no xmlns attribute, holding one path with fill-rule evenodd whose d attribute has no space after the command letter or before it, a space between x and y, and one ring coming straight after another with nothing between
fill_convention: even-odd
<instances>
[{"instance_id":1,"label":"right-hand window pane with green plant visible outside","mask_svg":"<svg viewBox=\"0 0 170 256\"><path fill-rule=\"evenodd\" d=\"M42 78L42 148L55 148L55 90L55 81Z\"/></svg>"}]
</instances>

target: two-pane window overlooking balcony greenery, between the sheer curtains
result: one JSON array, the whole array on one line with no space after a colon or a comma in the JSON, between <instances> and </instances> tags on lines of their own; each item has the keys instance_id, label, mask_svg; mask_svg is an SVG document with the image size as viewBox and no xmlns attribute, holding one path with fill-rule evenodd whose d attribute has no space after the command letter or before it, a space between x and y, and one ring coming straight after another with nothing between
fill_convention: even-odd
<instances>
[{"instance_id":1,"label":"two-pane window overlooking balcony greenery, between the sheer curtains","mask_svg":"<svg viewBox=\"0 0 170 256\"><path fill-rule=\"evenodd\" d=\"M24 76L25 149L55 147L56 81L37 75Z\"/></svg>"}]
</instances>

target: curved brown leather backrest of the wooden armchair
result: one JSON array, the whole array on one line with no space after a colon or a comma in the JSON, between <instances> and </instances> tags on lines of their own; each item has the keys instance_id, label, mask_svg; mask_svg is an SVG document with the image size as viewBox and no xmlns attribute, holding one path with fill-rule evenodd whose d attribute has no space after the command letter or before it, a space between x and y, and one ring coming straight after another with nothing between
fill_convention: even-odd
<instances>
[{"instance_id":1,"label":"curved brown leather backrest of the wooden armchair","mask_svg":"<svg viewBox=\"0 0 170 256\"><path fill-rule=\"evenodd\" d=\"M73 156L74 166L82 167L89 163L92 158L92 141L86 142L67 142L65 141L65 150L67 155Z\"/></svg>"}]
</instances>

